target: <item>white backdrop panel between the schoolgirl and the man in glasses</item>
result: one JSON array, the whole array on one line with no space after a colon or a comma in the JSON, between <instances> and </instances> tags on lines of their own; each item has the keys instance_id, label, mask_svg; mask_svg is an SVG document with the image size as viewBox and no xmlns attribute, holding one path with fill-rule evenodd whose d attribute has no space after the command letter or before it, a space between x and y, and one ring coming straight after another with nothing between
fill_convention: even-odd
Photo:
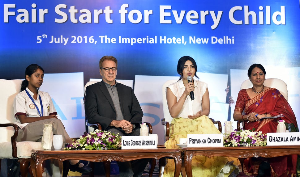
<instances>
[{"instance_id":1,"label":"white backdrop panel between the schoolgirl and the man in glasses","mask_svg":"<svg viewBox=\"0 0 300 177\"><path fill-rule=\"evenodd\" d=\"M41 91L48 92L54 102L58 118L70 137L85 132L83 73L45 74Z\"/></svg>"}]
</instances>

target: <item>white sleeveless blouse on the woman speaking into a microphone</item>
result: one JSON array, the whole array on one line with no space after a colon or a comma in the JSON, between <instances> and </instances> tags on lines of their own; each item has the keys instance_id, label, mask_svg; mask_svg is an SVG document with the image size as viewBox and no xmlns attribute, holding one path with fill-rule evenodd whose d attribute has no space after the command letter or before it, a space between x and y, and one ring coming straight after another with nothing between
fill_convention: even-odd
<instances>
[{"instance_id":1,"label":"white sleeveless blouse on the woman speaking into a microphone","mask_svg":"<svg viewBox=\"0 0 300 177\"><path fill-rule=\"evenodd\" d=\"M194 79L194 85L195 85L195 89L194 89L195 99L191 100L190 96L186 97L182 109L180 110L177 116L178 118L182 117L188 119L187 115L194 115L197 112L202 110L202 97L207 89L207 83ZM185 86L183 84L182 79L178 82L170 84L168 88L170 88L170 90L176 96L177 101L180 99L181 95L185 90Z\"/></svg>"}]
</instances>

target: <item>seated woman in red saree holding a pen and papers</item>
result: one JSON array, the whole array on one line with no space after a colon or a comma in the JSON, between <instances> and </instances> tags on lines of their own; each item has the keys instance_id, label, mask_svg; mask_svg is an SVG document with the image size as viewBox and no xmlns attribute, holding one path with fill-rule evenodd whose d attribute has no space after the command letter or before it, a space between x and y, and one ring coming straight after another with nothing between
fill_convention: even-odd
<instances>
[{"instance_id":1,"label":"seated woman in red saree holding a pen and papers","mask_svg":"<svg viewBox=\"0 0 300 177\"><path fill-rule=\"evenodd\" d=\"M253 87L242 89L238 93L234 109L234 120L244 121L244 129L255 129L263 133L273 133L277 129L277 121L285 120L290 131L298 132L296 117L283 95L275 89L264 86L266 71L260 64L253 64L248 70L248 77ZM244 114L243 114L244 112ZM280 118L265 118L283 114ZM259 174L261 162L270 164L270 174ZM275 158L247 158L243 171L246 175L264 175L274 177L296 176L297 155Z\"/></svg>"}]
</instances>

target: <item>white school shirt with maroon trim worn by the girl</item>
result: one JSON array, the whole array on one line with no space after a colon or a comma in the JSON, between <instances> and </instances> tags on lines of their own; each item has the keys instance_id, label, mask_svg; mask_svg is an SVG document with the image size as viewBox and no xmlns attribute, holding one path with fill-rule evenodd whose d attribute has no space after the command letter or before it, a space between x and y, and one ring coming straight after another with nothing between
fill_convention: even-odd
<instances>
[{"instance_id":1,"label":"white school shirt with maroon trim worn by the girl","mask_svg":"<svg viewBox=\"0 0 300 177\"><path fill-rule=\"evenodd\" d=\"M41 100L43 103L44 108L44 114L43 116L49 116L50 114L57 114L55 107L53 105L52 99L50 95L47 92L43 92L40 90L37 90L37 99L35 100L33 98L33 92L30 91L27 87L26 90L31 95L32 99L36 103L36 106L39 108L41 113L41 104L39 96L41 96ZM26 91L21 91L14 100L14 113L15 113L15 124L19 126L20 129L22 129L25 125L29 123L21 124L20 120L17 118L17 115L24 115L27 117L41 117L38 113L36 107L34 109L31 109L29 107L30 104L33 104L32 100L27 95Z\"/></svg>"}]
</instances>

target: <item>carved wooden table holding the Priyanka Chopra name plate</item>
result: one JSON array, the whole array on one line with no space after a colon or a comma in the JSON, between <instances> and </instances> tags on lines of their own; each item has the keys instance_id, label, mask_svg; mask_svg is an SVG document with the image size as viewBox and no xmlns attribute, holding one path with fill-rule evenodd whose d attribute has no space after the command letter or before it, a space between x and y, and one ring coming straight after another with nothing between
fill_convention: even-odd
<instances>
[{"instance_id":1,"label":"carved wooden table holding the Priyanka Chopra name plate","mask_svg":"<svg viewBox=\"0 0 300 177\"><path fill-rule=\"evenodd\" d=\"M207 157L224 156L235 158L278 157L289 154L300 154L299 145L251 146L251 147L182 147L183 162L187 177L192 177L191 161L195 155Z\"/></svg>"}]
</instances>

